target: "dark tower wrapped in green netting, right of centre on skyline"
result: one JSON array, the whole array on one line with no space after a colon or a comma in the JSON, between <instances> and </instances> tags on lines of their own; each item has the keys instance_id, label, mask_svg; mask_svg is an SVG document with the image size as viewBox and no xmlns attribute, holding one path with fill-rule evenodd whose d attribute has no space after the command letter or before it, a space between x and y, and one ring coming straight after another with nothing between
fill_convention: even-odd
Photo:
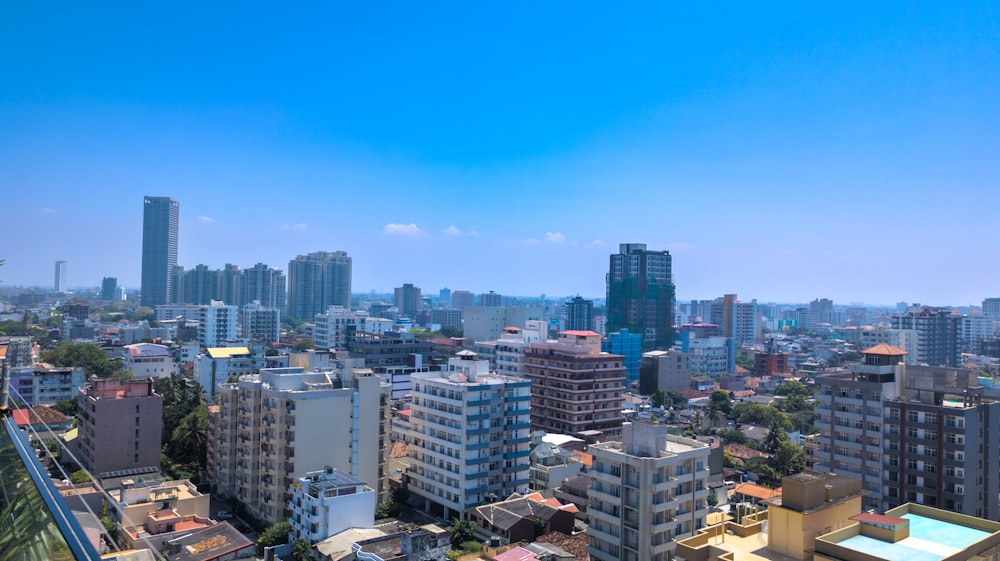
<instances>
[{"instance_id":1,"label":"dark tower wrapped in green netting, right of centre on skyline","mask_svg":"<svg viewBox=\"0 0 1000 561\"><path fill-rule=\"evenodd\" d=\"M643 335L643 351L674 344L674 282L670 252L623 243L608 271L608 331Z\"/></svg>"}]
</instances>

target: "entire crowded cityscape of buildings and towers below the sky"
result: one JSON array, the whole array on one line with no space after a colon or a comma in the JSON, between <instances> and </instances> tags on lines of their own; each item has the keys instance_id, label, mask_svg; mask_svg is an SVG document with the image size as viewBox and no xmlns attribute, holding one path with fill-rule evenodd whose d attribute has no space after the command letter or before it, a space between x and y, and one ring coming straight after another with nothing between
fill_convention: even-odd
<instances>
[{"instance_id":1,"label":"entire crowded cityscape of buildings and towers below the sky","mask_svg":"<svg viewBox=\"0 0 1000 561\"><path fill-rule=\"evenodd\" d=\"M600 298L384 294L141 208L137 290L0 286L0 558L997 561L1000 298L681 301L641 240Z\"/></svg>"}]
</instances>

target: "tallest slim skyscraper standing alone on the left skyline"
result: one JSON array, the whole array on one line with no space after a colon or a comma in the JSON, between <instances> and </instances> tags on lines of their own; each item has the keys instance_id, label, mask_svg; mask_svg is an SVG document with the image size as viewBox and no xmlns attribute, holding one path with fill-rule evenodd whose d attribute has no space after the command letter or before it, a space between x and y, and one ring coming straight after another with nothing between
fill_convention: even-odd
<instances>
[{"instance_id":1,"label":"tallest slim skyscraper standing alone on the left skyline","mask_svg":"<svg viewBox=\"0 0 1000 561\"><path fill-rule=\"evenodd\" d=\"M177 266L181 204L170 197L144 197L142 210L142 305L172 302L171 273Z\"/></svg>"}]
</instances>

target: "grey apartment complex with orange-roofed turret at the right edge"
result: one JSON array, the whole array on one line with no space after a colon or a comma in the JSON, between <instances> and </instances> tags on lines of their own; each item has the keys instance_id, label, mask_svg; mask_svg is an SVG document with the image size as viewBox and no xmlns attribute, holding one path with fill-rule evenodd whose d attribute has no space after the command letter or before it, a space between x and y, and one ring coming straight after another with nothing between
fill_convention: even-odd
<instances>
[{"instance_id":1,"label":"grey apartment complex with orange-roofed turret at the right edge","mask_svg":"<svg viewBox=\"0 0 1000 561\"><path fill-rule=\"evenodd\" d=\"M851 374L816 378L807 466L862 480L864 508L916 502L997 519L1000 402L973 370L913 366L880 344Z\"/></svg>"}]
</instances>

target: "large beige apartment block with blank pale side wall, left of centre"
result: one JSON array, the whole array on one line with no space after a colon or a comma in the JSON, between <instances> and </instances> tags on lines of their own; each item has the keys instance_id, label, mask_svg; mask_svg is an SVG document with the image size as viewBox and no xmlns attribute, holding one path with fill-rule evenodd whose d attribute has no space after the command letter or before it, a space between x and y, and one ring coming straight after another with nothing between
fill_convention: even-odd
<instances>
[{"instance_id":1,"label":"large beige apartment block with blank pale side wall, left of centre","mask_svg":"<svg viewBox=\"0 0 1000 561\"><path fill-rule=\"evenodd\" d=\"M389 389L371 370L264 368L218 390L216 487L268 523L296 475L337 468L386 492Z\"/></svg>"}]
</instances>

